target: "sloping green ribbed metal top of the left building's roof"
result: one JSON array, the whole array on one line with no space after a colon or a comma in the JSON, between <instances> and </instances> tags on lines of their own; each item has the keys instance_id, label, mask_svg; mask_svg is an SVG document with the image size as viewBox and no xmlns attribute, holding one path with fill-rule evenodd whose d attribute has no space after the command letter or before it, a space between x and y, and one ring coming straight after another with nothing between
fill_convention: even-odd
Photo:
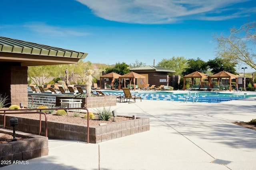
<instances>
[{"instance_id":1,"label":"sloping green ribbed metal top of the left building's roof","mask_svg":"<svg viewBox=\"0 0 256 170\"><path fill-rule=\"evenodd\" d=\"M48 45L31 43L28 41L22 41L6 37L0 37L0 51L56 57L72 57L80 59L84 59L88 55L87 53L81 53L78 51L61 49Z\"/></svg>"}]
</instances>

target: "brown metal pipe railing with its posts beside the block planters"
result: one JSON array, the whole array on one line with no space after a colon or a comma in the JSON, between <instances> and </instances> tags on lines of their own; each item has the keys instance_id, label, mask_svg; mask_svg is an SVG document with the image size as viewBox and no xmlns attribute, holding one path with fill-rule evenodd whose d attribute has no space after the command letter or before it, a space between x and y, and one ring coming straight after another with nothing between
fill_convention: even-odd
<instances>
[{"instance_id":1,"label":"brown metal pipe railing with its posts beside the block planters","mask_svg":"<svg viewBox=\"0 0 256 170\"><path fill-rule=\"evenodd\" d=\"M90 143L90 135L89 135L89 133L90 133L90 117L89 117L89 110L87 109L87 108L82 108L82 107L77 107L77 108L49 108L49 109L21 109L21 110L0 110L0 114L4 114L4 127L5 127L5 121L6 121L6 118L5 118L5 114L6 114L6 111L24 111L24 112L21 112L21 113L19 113L19 114L23 114L23 113L34 113L34 112L25 112L25 111L34 111L34 110L39 110L39 112L38 111L36 111L36 113L43 113L45 116L46 116L46 122L47 122L47 114L46 113L44 113L44 112L41 112L42 110L60 110L60 109L62 109L62 110L72 110L72 109L82 109L82 110L86 110L87 111L87 114L88 114L88 116L87 116L87 143ZM4 113L1 113L1 111L4 111ZM8 113L8 114L17 114L18 112L12 112L12 113ZM41 128L42 128L42 119L41 119L41 114L40 114L40 125L39 125L39 135L40 135L40 133L41 133ZM46 126L47 127L47 126ZM47 128L46 128L46 131L47 131ZM46 136L47 137L47 136Z\"/></svg>"}]
</instances>

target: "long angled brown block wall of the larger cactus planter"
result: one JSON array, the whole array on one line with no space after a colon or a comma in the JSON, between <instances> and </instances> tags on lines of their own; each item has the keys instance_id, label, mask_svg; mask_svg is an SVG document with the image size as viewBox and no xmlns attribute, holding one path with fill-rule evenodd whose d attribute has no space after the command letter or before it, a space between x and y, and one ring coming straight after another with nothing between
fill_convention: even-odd
<instances>
[{"instance_id":1,"label":"long angled brown block wall of the larger cactus planter","mask_svg":"<svg viewBox=\"0 0 256 170\"><path fill-rule=\"evenodd\" d=\"M39 133L39 120L18 117L19 124L16 130L26 133ZM6 122L9 122L11 116L6 116ZM3 124L3 115L0 115L0 123ZM9 126L9 127L8 127ZM12 128L6 125L7 128ZM150 121L147 117L137 117L128 121L121 121L100 126L90 126L90 143L100 143L135 133L141 133L150 130ZM42 131L40 135L45 134L45 123L42 121ZM48 138L64 139L87 142L87 125L76 123L67 123L48 120Z\"/></svg>"}]
</instances>

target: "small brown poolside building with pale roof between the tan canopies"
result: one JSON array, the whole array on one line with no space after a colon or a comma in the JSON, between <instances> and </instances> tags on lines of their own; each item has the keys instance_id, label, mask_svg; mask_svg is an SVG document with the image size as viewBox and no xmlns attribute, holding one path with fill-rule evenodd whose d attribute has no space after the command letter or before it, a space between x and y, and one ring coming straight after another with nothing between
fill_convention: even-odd
<instances>
[{"instance_id":1,"label":"small brown poolside building with pale roof between the tan canopies","mask_svg":"<svg viewBox=\"0 0 256 170\"><path fill-rule=\"evenodd\" d=\"M155 84L156 87L160 85L169 86L169 75L170 72L175 72L172 69L159 67L159 66L143 66L130 68L131 71L146 76L145 84Z\"/></svg>"}]
</instances>

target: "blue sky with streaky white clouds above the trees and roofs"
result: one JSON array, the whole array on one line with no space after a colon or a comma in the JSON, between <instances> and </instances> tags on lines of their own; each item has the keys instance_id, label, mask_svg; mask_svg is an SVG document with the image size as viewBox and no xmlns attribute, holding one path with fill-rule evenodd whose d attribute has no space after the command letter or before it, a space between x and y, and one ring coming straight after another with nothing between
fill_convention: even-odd
<instances>
[{"instance_id":1,"label":"blue sky with streaky white clouds above the trees and roofs","mask_svg":"<svg viewBox=\"0 0 256 170\"><path fill-rule=\"evenodd\" d=\"M0 36L85 52L92 63L208 61L213 35L255 13L255 0L1 0Z\"/></svg>"}]
</instances>

